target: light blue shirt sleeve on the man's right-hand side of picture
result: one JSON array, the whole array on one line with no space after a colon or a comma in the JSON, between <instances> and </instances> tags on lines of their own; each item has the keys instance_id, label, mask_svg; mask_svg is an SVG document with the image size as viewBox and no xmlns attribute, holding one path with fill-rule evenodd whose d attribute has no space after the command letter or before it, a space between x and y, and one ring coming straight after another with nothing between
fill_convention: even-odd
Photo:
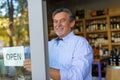
<instances>
[{"instance_id":1,"label":"light blue shirt sleeve on the man's right-hand side of picture","mask_svg":"<svg viewBox=\"0 0 120 80\"><path fill-rule=\"evenodd\" d=\"M86 39L77 42L70 69L61 69L61 80L92 80L93 50Z\"/></svg>"}]
</instances>

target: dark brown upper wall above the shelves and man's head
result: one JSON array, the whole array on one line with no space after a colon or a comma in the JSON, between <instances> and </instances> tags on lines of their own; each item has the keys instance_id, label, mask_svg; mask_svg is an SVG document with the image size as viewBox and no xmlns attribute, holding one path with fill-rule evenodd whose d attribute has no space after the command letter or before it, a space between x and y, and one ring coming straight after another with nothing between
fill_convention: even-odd
<instances>
[{"instance_id":1,"label":"dark brown upper wall above the shelves and man's head","mask_svg":"<svg viewBox=\"0 0 120 80\"><path fill-rule=\"evenodd\" d=\"M58 7L68 7L75 12L76 10L81 9L103 9L119 5L120 0L79 0L79 2L73 2L72 4L70 2L57 3L54 5L47 3L47 6L49 7L47 10L48 14L51 15L52 11Z\"/></svg>"}]
</instances>

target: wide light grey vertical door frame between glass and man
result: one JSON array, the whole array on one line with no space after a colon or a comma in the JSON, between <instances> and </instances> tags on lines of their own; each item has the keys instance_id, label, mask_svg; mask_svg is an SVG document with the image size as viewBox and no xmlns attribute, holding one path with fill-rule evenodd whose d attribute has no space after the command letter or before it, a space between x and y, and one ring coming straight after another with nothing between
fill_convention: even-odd
<instances>
[{"instance_id":1,"label":"wide light grey vertical door frame between glass and man","mask_svg":"<svg viewBox=\"0 0 120 80\"><path fill-rule=\"evenodd\" d=\"M32 80L50 80L45 0L28 0Z\"/></svg>"}]
</instances>

